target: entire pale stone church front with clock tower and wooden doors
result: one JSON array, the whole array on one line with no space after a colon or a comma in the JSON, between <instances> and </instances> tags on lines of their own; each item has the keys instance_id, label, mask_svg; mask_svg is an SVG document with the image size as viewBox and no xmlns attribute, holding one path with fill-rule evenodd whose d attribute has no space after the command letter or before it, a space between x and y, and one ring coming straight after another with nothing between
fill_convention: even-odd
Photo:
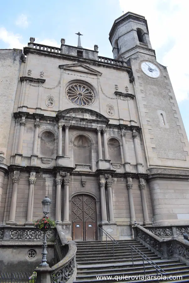
<instances>
[{"instance_id":1,"label":"entire pale stone church front with clock tower and wooden doors","mask_svg":"<svg viewBox=\"0 0 189 283\"><path fill-rule=\"evenodd\" d=\"M48 195L68 240L100 239L98 227L121 240L136 222L187 224L189 144L147 21L115 20L114 59L81 47L80 36L60 48L31 37L17 60L7 144L0 137L0 222L30 227Z\"/></svg>"}]
</instances>

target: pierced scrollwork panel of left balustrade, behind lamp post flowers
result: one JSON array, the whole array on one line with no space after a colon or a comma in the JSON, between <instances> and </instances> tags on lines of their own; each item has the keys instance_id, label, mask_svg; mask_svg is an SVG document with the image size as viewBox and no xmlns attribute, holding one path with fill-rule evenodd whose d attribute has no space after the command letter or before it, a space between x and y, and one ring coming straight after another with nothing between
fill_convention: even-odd
<instances>
[{"instance_id":1,"label":"pierced scrollwork panel of left balustrade, behind lamp post flowers","mask_svg":"<svg viewBox=\"0 0 189 283\"><path fill-rule=\"evenodd\" d=\"M55 236L54 230L47 231L46 238L50 239ZM44 233L40 230L10 230L11 240L43 240Z\"/></svg>"}]
</instances>

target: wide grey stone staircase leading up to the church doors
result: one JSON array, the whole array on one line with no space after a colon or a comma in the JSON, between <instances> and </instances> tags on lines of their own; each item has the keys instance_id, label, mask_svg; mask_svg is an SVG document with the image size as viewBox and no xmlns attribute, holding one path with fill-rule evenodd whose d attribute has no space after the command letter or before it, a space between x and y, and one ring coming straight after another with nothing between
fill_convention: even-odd
<instances>
[{"instance_id":1,"label":"wide grey stone staircase leading up to the church doors","mask_svg":"<svg viewBox=\"0 0 189 283\"><path fill-rule=\"evenodd\" d=\"M162 260L154 252L150 251L139 241L127 240L119 241L114 244L115 257L113 257L112 242L108 241L108 249L106 242L77 242L76 262L78 264L77 277L75 283L99 282L99 283L142 283L142 282L158 282L158 280L141 280L135 277L134 280L122 279L122 276L143 276L143 260L133 251L134 268L132 266L131 248L133 245L152 259L162 269L165 270L167 278L169 276L182 276L182 280L159 280L159 282L189 282L188 267L179 260ZM157 275L156 270L147 262L145 263L146 275ZM160 273L158 273L161 276ZM96 276L112 276L108 280L106 277L97 279ZM118 278L115 276L118 276ZM120 276L120 277L119 277ZM165 276L165 275L162 275ZM120 279L120 280L119 280Z\"/></svg>"}]
</instances>

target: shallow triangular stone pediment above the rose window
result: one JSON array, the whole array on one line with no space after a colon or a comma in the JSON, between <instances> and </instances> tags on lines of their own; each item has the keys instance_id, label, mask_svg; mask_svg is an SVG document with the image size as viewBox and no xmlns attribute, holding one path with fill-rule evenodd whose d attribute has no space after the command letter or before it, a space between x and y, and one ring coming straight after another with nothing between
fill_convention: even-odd
<instances>
[{"instance_id":1,"label":"shallow triangular stone pediment above the rose window","mask_svg":"<svg viewBox=\"0 0 189 283\"><path fill-rule=\"evenodd\" d=\"M75 63L75 64L65 64L65 65L59 65L60 69L64 69L65 71L70 71L70 72L77 72L81 74L87 74L87 75L99 75L101 76L102 73L99 71L83 64L83 63Z\"/></svg>"}]
</instances>

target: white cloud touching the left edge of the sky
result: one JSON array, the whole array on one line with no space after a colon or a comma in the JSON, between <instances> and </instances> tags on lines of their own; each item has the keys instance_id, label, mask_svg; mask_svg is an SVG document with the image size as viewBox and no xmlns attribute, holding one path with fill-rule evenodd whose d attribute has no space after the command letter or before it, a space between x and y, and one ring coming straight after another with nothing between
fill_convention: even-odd
<instances>
[{"instance_id":1,"label":"white cloud touching the left edge of the sky","mask_svg":"<svg viewBox=\"0 0 189 283\"><path fill-rule=\"evenodd\" d=\"M25 46L20 41L22 40L22 36L19 34L13 34L12 32L8 32L6 28L0 28L0 39L7 44L8 49L18 48L23 49Z\"/></svg>"}]
</instances>

